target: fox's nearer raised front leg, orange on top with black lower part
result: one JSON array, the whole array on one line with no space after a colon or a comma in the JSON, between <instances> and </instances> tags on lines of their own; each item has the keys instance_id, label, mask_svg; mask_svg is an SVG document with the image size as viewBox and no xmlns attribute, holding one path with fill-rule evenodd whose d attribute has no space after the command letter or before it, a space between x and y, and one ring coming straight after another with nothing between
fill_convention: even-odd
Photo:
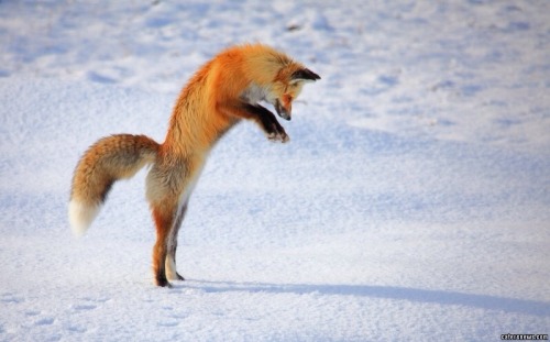
<instances>
[{"instance_id":1,"label":"fox's nearer raised front leg, orange on top with black lower part","mask_svg":"<svg viewBox=\"0 0 550 342\"><path fill-rule=\"evenodd\" d=\"M226 103L218 106L218 110L231 117L254 120L264 131L268 140L279 141L282 143L286 143L290 140L275 115L268 109L257 103Z\"/></svg>"}]
</instances>

